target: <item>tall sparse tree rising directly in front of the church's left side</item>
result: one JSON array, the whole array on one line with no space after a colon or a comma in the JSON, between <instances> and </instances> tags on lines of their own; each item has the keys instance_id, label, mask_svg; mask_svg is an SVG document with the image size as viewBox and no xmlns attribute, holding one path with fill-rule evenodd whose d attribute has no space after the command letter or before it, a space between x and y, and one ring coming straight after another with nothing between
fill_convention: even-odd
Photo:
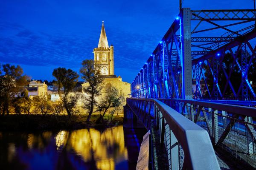
<instances>
[{"instance_id":1,"label":"tall sparse tree rising directly in front of the church's left side","mask_svg":"<svg viewBox=\"0 0 256 170\"><path fill-rule=\"evenodd\" d=\"M97 105L96 97L100 95L103 79L98 75L99 71L94 69L94 61L92 59L85 59L82 62L80 73L82 74L82 79L88 83L88 85L83 88L83 91L87 94L84 102L84 108L89 110L89 115L86 120L89 122L93 113L93 108Z\"/></svg>"}]
</instances>

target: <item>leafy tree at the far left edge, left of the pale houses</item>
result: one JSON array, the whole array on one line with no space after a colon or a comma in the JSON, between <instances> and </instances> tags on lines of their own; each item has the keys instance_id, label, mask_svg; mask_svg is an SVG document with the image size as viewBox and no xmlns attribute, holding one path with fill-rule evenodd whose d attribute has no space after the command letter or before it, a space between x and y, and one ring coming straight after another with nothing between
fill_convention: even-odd
<instances>
[{"instance_id":1,"label":"leafy tree at the far left edge, left of the pale houses","mask_svg":"<svg viewBox=\"0 0 256 170\"><path fill-rule=\"evenodd\" d=\"M15 95L21 88L28 84L29 77L23 75L22 68L17 65L3 65L3 75L0 75L0 104L3 109L3 115L9 114L9 107Z\"/></svg>"}]
</instances>

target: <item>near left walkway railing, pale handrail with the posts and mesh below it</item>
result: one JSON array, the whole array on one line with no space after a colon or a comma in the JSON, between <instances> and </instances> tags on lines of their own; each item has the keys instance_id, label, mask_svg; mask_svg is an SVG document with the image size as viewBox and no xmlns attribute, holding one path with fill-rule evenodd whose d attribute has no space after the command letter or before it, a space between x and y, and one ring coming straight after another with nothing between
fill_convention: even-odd
<instances>
[{"instance_id":1,"label":"near left walkway railing, pale handrail with the posts and mesh below it","mask_svg":"<svg viewBox=\"0 0 256 170\"><path fill-rule=\"evenodd\" d=\"M189 121L158 99L127 98L127 105L150 130L151 120L160 129L160 144L170 170L219 170L219 164L206 130Z\"/></svg>"}]
</instances>

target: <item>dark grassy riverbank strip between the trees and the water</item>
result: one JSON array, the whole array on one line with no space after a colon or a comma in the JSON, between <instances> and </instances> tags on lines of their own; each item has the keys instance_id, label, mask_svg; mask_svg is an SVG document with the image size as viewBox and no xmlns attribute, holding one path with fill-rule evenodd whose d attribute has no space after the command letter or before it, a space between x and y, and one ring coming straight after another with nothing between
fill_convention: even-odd
<instances>
[{"instance_id":1,"label":"dark grassy riverbank strip between the trees and the water","mask_svg":"<svg viewBox=\"0 0 256 170\"><path fill-rule=\"evenodd\" d=\"M93 114L90 122L86 122L86 118L87 114L73 115L71 119L67 115L0 115L0 131L105 129L123 124L123 114L113 115L113 120L104 124L96 123L99 114ZM108 119L108 115L104 119Z\"/></svg>"}]
</instances>

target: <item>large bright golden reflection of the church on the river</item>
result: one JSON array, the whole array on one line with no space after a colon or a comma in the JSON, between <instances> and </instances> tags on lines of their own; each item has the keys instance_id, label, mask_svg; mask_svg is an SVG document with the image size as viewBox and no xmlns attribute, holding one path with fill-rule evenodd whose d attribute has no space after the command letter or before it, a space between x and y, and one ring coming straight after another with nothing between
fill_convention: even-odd
<instances>
[{"instance_id":1,"label":"large bright golden reflection of the church on the river","mask_svg":"<svg viewBox=\"0 0 256 170\"><path fill-rule=\"evenodd\" d=\"M55 137L57 150L72 149L85 162L94 159L98 169L114 170L115 163L128 159L122 128L108 128L103 133L95 129L59 131Z\"/></svg>"}]
</instances>

